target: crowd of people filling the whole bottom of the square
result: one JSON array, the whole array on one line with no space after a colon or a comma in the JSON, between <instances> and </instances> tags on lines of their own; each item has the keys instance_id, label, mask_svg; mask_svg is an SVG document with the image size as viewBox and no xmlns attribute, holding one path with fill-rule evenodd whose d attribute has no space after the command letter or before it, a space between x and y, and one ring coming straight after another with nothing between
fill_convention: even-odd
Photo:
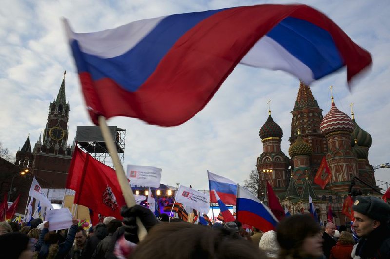
<instances>
[{"instance_id":1,"label":"crowd of people filling the whole bottom of the square","mask_svg":"<svg viewBox=\"0 0 390 259\"><path fill-rule=\"evenodd\" d=\"M156 218L140 205L123 208L123 220L106 217L88 231L78 227L77 220L60 231L49 231L50 222L41 219L21 228L0 222L0 258L390 259L390 206L376 197L358 196L352 208L352 230L336 230L331 222L321 228L311 215L295 214L275 230L263 233L252 228L249 233L238 221L196 225L167 216ZM136 217L148 232L141 241Z\"/></svg>"}]
</instances>

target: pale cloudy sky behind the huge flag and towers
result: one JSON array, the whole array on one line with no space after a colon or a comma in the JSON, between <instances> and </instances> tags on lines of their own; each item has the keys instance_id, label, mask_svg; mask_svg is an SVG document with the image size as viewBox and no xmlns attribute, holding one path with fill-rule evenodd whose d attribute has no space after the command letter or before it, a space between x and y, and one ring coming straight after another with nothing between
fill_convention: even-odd
<instances>
[{"instance_id":1,"label":"pale cloudy sky behind the huge flag and towers","mask_svg":"<svg viewBox=\"0 0 390 259\"><path fill-rule=\"evenodd\" d=\"M350 92L341 70L312 83L319 106L331 107L329 86L339 110L351 115L369 132L373 166L390 162L390 1L305 1L335 21L353 41L373 57L372 71ZM249 0L122 0L122 1L21 1L3 0L0 9L0 141L15 154L28 134L31 145L46 126L49 104L66 74L70 104L68 143L76 126L92 126L61 18L75 32L111 29L135 20L163 15L291 1ZM263 150L259 129L272 116L283 129L282 150L288 155L291 111L299 81L287 73L238 65L207 106L188 122L170 128L147 125L137 119L117 117L110 126L126 129L124 165L162 168L162 183L208 189L207 170L240 184L255 168ZM390 183L390 169L376 170L376 179ZM378 181L378 185L383 184ZM385 188L386 185L381 185Z\"/></svg>"}]
</instances>

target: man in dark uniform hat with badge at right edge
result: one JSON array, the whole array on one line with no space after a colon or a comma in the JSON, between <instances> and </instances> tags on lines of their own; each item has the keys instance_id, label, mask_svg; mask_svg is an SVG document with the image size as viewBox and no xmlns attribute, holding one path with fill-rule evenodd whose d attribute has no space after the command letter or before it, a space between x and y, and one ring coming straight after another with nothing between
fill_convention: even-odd
<instances>
[{"instance_id":1,"label":"man in dark uniform hat with badge at right edge","mask_svg":"<svg viewBox=\"0 0 390 259\"><path fill-rule=\"evenodd\" d=\"M353 228L360 238L353 247L354 259L390 259L390 206L373 196L358 196L352 206Z\"/></svg>"}]
</instances>

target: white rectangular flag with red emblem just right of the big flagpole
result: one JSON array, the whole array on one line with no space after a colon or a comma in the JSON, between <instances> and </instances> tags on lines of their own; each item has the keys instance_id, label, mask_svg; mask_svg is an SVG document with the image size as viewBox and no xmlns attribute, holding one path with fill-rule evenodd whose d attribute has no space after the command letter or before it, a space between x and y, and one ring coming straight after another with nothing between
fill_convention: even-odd
<instances>
[{"instance_id":1,"label":"white rectangular flag with red emblem just right of the big flagpole","mask_svg":"<svg viewBox=\"0 0 390 259\"><path fill-rule=\"evenodd\" d=\"M127 165L126 176L131 185L143 185L159 188L161 169L153 166Z\"/></svg>"}]
</instances>

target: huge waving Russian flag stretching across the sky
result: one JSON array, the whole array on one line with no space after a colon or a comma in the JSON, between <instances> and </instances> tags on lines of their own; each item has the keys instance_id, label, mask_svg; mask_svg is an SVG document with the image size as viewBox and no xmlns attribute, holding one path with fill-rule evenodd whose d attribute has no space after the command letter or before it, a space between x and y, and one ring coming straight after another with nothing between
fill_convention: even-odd
<instances>
[{"instance_id":1,"label":"huge waving Russian flag stretching across the sky","mask_svg":"<svg viewBox=\"0 0 390 259\"><path fill-rule=\"evenodd\" d=\"M306 84L372 63L331 19L306 5L264 4L174 14L75 33L65 20L91 119L128 116L175 126L192 118L238 64Z\"/></svg>"}]
</instances>

